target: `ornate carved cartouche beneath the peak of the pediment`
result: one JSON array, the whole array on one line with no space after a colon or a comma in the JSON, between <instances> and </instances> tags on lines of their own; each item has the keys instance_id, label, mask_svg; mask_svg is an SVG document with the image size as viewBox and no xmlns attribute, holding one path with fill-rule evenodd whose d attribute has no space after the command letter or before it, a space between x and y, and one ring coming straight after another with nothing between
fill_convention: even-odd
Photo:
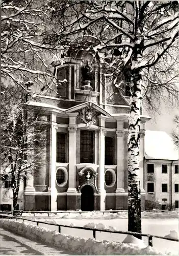
<instances>
[{"instance_id":1,"label":"ornate carved cartouche beneath the peak of the pediment","mask_svg":"<svg viewBox=\"0 0 179 256\"><path fill-rule=\"evenodd\" d=\"M92 103L90 102L86 108L79 111L78 118L80 118L84 123L86 123L87 129L90 128L91 124L96 122L96 118L99 113L93 108Z\"/></svg>"}]
</instances>

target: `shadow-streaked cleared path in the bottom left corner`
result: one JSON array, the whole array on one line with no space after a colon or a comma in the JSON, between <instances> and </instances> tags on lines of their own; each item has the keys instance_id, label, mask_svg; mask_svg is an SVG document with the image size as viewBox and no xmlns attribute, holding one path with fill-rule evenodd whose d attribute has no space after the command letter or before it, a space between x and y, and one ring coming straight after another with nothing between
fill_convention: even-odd
<instances>
[{"instance_id":1,"label":"shadow-streaked cleared path in the bottom left corner","mask_svg":"<svg viewBox=\"0 0 179 256\"><path fill-rule=\"evenodd\" d=\"M0 228L1 255L73 255Z\"/></svg>"}]
</instances>

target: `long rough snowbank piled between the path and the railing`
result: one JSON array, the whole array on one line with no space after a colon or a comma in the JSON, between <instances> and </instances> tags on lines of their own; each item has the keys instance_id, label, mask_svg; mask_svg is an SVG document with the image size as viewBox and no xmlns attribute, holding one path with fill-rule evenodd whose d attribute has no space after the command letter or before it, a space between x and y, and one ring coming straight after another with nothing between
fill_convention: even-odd
<instances>
[{"instance_id":1,"label":"long rough snowbank piled between the path and the railing","mask_svg":"<svg viewBox=\"0 0 179 256\"><path fill-rule=\"evenodd\" d=\"M32 224L17 222L15 220L1 220L1 227L15 232L23 237L36 241L45 242L51 246L68 250L74 254L83 255L164 255L156 248L140 246L132 243L97 241L94 239L84 239L60 234L57 231L48 230L46 228L34 226ZM131 238L127 239L131 242ZM133 242L133 241L132 241ZM171 255L166 252L165 255ZM177 255L177 254L176 254Z\"/></svg>"}]
</instances>

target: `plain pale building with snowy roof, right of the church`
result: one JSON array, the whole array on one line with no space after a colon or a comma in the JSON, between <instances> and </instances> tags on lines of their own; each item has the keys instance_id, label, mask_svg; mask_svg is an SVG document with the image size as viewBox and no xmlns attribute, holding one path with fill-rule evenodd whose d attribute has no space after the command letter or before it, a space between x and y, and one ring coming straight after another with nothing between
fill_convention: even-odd
<instances>
[{"instance_id":1,"label":"plain pale building with snowy roof, right of the church","mask_svg":"<svg viewBox=\"0 0 179 256\"><path fill-rule=\"evenodd\" d=\"M145 131L145 209L178 208L178 151L165 132Z\"/></svg>"}]
</instances>

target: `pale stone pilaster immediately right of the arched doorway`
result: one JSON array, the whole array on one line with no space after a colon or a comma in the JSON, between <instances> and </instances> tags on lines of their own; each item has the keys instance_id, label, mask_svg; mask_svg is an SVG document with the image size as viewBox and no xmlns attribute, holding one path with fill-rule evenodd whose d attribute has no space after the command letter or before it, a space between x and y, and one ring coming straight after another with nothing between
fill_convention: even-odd
<instances>
[{"instance_id":1,"label":"pale stone pilaster immediately right of the arched doorway","mask_svg":"<svg viewBox=\"0 0 179 256\"><path fill-rule=\"evenodd\" d=\"M104 120L100 119L100 124L103 124ZM104 124L101 126L105 126ZM106 130L102 127L99 128L99 186L98 193L100 193L100 210L105 210L105 134Z\"/></svg>"}]
</instances>

